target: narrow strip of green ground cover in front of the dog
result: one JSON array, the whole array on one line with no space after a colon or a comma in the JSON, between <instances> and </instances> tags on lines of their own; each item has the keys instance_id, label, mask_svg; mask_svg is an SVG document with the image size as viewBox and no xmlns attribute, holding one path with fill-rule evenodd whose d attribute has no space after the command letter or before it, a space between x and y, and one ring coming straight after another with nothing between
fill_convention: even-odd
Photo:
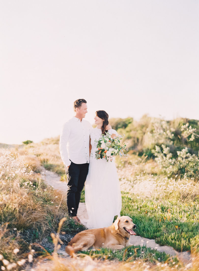
<instances>
[{"instance_id":1,"label":"narrow strip of green ground cover in front of the dog","mask_svg":"<svg viewBox=\"0 0 199 271\"><path fill-rule=\"evenodd\" d=\"M170 256L165 252L159 252L155 249L151 249L146 246L130 246L121 250L112 250L108 248L101 248L100 250L86 250L79 251L78 253L90 255L92 257L97 257L99 259L108 259L108 260L118 260L118 261L126 261L129 262L135 261L137 259L145 259L149 262L155 263L165 262ZM177 259L174 259L177 262Z\"/></svg>"}]
</instances>

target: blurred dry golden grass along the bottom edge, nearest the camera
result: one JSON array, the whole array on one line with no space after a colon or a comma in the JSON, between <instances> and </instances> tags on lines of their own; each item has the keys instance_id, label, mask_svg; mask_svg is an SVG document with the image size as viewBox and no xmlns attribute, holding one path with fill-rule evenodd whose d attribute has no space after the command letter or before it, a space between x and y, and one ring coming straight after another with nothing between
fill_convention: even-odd
<instances>
[{"instance_id":1,"label":"blurred dry golden grass along the bottom edge, nearest the camera","mask_svg":"<svg viewBox=\"0 0 199 271\"><path fill-rule=\"evenodd\" d=\"M128 260L125 262L116 262L109 260L98 260L95 257L91 257L85 254L75 255L73 258L62 259L60 257L54 256L49 262L41 262L39 265L34 268L34 270L41 271L107 271L107 270L116 270L116 271L171 271L171 270L190 270L190 271L198 271L199 270L199 255L193 254L192 260L190 263L183 264L181 262L178 263L156 263L151 264L145 260L137 260L134 262L129 262Z\"/></svg>"}]
</instances>

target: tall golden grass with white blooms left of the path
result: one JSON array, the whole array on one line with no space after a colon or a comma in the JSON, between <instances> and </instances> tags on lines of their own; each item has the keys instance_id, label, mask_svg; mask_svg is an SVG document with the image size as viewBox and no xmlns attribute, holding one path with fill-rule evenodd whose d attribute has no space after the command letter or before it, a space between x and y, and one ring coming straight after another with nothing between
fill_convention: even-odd
<instances>
[{"instance_id":1,"label":"tall golden grass with white blooms left of the path","mask_svg":"<svg viewBox=\"0 0 199 271\"><path fill-rule=\"evenodd\" d=\"M27 253L42 247L53 249L50 234L55 233L59 221L65 218L60 238L66 243L75 233L84 229L68 219L67 205L63 196L47 186L37 172L37 157L28 156L21 150L1 150L0 156L0 266L20 260L28 262ZM14 253L14 251L17 253ZM30 256L29 256L30 257ZM4 262L3 262L4 260ZM24 263L25 263L24 262ZM14 266L14 265L13 265ZM19 269L20 265L15 266Z\"/></svg>"}]
</instances>

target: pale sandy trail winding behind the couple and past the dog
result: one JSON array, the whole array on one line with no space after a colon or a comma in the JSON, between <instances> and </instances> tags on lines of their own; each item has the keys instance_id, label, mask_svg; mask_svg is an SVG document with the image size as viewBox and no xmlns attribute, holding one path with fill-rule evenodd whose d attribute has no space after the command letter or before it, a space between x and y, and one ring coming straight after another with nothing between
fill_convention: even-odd
<instances>
[{"instance_id":1,"label":"pale sandy trail winding behind the couple and past the dog","mask_svg":"<svg viewBox=\"0 0 199 271\"><path fill-rule=\"evenodd\" d=\"M48 185L53 186L54 189L58 189L61 193L63 193L63 196L64 196L63 198L66 198L67 184L65 182L60 181L60 177L58 174L42 168L41 175L42 175L42 179L46 180ZM86 226L88 215L87 215L86 206L84 202L79 203L77 216L81 220L82 224ZM157 249L158 251L165 252L167 254L170 254L171 256L177 256L184 263L188 263L191 259L190 253L188 251L178 252L173 247L160 246L157 243L155 243L155 240L143 238L141 236L132 235L130 238L130 243L133 245L151 247L152 249ZM63 250L61 250L61 253L64 255L66 254L65 251ZM65 256L67 256L67 254Z\"/></svg>"}]
</instances>

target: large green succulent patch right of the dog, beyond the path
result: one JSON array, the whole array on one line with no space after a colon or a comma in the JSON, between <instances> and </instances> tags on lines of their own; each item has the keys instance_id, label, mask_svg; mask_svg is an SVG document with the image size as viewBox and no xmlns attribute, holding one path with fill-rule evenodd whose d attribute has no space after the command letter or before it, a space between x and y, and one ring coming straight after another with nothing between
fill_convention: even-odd
<instances>
[{"instance_id":1,"label":"large green succulent patch right of the dog, beyond the path","mask_svg":"<svg viewBox=\"0 0 199 271\"><path fill-rule=\"evenodd\" d=\"M160 245L187 251L199 244L198 202L154 202L123 193L121 215L132 218L137 235Z\"/></svg>"}]
</instances>

